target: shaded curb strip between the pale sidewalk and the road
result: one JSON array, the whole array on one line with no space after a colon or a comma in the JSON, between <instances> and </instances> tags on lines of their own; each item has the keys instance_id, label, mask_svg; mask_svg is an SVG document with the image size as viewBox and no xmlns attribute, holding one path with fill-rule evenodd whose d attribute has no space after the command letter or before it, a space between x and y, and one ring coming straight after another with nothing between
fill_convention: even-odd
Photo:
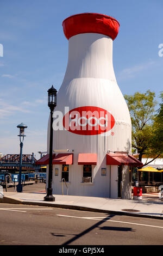
<instances>
[{"instance_id":1,"label":"shaded curb strip between the pale sidewalk and the road","mask_svg":"<svg viewBox=\"0 0 163 256\"><path fill-rule=\"evenodd\" d=\"M78 206L78 205L51 204L51 203L31 202L31 201L26 202L21 199L14 199L12 197L5 197L5 196L0 199L0 203L37 205L37 206L47 206L47 207L53 207L53 208L62 208L62 209L79 210L79 211L102 212L104 214L114 214L114 215L142 217L142 218L154 218L158 220L163 219L163 215L161 217L161 216L152 216L152 215L145 215L145 214L133 214L131 212L123 212L123 211L101 210L101 209L89 208L89 207Z\"/></svg>"}]
</instances>

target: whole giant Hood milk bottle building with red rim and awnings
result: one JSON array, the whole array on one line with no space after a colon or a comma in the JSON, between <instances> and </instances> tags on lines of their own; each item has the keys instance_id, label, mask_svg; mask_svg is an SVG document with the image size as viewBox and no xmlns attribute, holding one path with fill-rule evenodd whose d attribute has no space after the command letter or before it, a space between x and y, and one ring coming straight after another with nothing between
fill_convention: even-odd
<instances>
[{"instance_id":1,"label":"whole giant Hood milk bottle building with red rim and awnings","mask_svg":"<svg viewBox=\"0 0 163 256\"><path fill-rule=\"evenodd\" d=\"M62 193L65 179L69 195L130 199L131 168L141 162L130 155L130 114L112 65L120 25L85 13L62 26L68 63L54 113L53 193ZM49 148L49 128L47 137Z\"/></svg>"}]
</instances>

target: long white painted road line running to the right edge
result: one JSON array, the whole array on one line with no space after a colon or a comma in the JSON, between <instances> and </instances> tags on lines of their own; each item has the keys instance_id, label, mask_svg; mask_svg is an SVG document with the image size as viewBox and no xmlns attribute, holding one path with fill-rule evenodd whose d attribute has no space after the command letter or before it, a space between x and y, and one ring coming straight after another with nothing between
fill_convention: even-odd
<instances>
[{"instance_id":1,"label":"long white painted road line running to the right edge","mask_svg":"<svg viewBox=\"0 0 163 256\"><path fill-rule=\"evenodd\" d=\"M118 223L133 224L133 225L142 225L142 226L145 226L145 227L153 227L153 228L162 228L163 229L163 227L155 226L155 225L147 225L147 224L140 224L140 223L133 223L133 222L124 222L124 221L106 220L105 217L76 217L76 216L59 215L59 214L57 214L57 216L71 217L71 218L83 218L83 219L87 219L87 220L96 220L96 221L99 221L99 218L103 218L103 220L101 220L101 221L118 222Z\"/></svg>"}]
</instances>

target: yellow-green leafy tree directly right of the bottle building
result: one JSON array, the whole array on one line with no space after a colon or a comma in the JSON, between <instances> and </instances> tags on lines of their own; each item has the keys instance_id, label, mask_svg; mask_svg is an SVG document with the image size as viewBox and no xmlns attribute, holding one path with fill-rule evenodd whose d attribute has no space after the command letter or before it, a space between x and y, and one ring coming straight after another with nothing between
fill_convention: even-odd
<instances>
[{"instance_id":1,"label":"yellow-green leafy tree directly right of the bottle building","mask_svg":"<svg viewBox=\"0 0 163 256\"><path fill-rule=\"evenodd\" d=\"M136 92L134 95L124 95L129 108L132 123L132 147L137 150L139 160L143 154L151 153L153 141L153 123L155 113L155 93Z\"/></svg>"}]
</instances>

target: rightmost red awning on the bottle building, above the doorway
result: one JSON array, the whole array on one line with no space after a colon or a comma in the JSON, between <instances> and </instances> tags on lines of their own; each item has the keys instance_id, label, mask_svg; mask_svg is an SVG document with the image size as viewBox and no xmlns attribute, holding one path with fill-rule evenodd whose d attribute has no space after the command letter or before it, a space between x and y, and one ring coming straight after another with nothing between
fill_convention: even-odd
<instances>
[{"instance_id":1,"label":"rightmost red awning on the bottle building, above the doorway","mask_svg":"<svg viewBox=\"0 0 163 256\"><path fill-rule=\"evenodd\" d=\"M134 156L122 153L106 154L106 164L116 166L143 166L143 163L137 160Z\"/></svg>"}]
</instances>

